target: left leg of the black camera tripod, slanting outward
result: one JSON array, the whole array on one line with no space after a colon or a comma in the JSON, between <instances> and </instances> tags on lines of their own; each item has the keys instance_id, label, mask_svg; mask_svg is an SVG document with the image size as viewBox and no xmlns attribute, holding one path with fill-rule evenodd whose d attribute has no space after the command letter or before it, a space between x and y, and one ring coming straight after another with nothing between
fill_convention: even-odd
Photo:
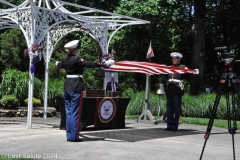
<instances>
[{"instance_id":1,"label":"left leg of the black camera tripod, slanting outward","mask_svg":"<svg viewBox=\"0 0 240 160\"><path fill-rule=\"evenodd\" d=\"M224 89L224 84L221 83L219 85L219 88L218 88L217 96L216 96L216 99L214 101L214 105L213 105L213 108L212 108L212 111L211 111L211 115L210 115L210 119L209 119L209 122L208 122L207 130L206 130L205 135L204 135L205 142L204 142L204 145L203 145L203 149L202 149L202 153L201 153L201 156L200 156L200 160L202 159L203 152L204 152L207 140L208 140L208 138L210 136L210 133L211 133L211 130L212 130L214 117L215 117L216 112L217 112L218 104L219 104L219 101L220 101L223 89Z\"/></svg>"}]
</instances>

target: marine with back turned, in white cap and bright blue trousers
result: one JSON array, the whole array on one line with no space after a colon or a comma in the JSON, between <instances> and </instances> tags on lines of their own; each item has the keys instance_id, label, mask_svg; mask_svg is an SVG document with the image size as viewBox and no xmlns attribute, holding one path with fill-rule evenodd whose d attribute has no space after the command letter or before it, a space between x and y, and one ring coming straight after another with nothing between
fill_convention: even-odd
<instances>
[{"instance_id":1,"label":"marine with back turned, in white cap and bright blue trousers","mask_svg":"<svg viewBox=\"0 0 240 160\"><path fill-rule=\"evenodd\" d=\"M64 83L64 100L66 110L66 136L69 142L79 142L79 127L82 111L82 91L83 85L83 71L84 67L96 68L100 66L109 66L114 64L112 59L106 61L104 64L97 62L90 62L81 59L77 56L79 40L73 40L67 43L64 48L69 52L68 55L57 61L56 66L66 71L66 79Z\"/></svg>"}]
</instances>

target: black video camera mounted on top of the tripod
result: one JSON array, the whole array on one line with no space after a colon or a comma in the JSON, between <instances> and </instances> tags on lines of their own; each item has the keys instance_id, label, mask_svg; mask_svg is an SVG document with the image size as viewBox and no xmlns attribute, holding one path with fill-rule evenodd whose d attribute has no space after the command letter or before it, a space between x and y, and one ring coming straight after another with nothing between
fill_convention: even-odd
<instances>
[{"instance_id":1,"label":"black video camera mounted on top of the tripod","mask_svg":"<svg viewBox=\"0 0 240 160\"><path fill-rule=\"evenodd\" d=\"M219 62L233 62L236 58L235 53L227 52L227 47L215 47L215 51L218 51L218 61Z\"/></svg>"}]
</instances>

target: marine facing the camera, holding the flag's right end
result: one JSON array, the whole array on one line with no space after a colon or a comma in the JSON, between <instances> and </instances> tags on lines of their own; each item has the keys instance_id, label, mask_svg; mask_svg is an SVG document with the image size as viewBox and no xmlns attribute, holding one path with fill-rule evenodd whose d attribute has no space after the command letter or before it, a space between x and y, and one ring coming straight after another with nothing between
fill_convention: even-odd
<instances>
[{"instance_id":1,"label":"marine facing the camera, holding the flag's right end","mask_svg":"<svg viewBox=\"0 0 240 160\"><path fill-rule=\"evenodd\" d=\"M170 54L173 65L176 68L187 68L180 64L182 54L173 52ZM177 131L183 95L183 74L168 74L168 85L166 89L167 97L167 128L166 131Z\"/></svg>"}]
</instances>

